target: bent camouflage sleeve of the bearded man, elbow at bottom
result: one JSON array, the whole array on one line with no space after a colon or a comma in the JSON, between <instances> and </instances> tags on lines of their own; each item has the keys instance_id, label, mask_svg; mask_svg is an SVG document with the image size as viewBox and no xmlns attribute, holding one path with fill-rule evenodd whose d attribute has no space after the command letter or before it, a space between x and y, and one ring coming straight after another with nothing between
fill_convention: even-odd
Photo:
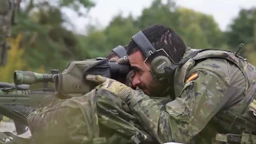
<instances>
[{"instance_id":1,"label":"bent camouflage sleeve of the bearded man, elbow at bottom","mask_svg":"<svg viewBox=\"0 0 256 144\"><path fill-rule=\"evenodd\" d=\"M132 113L158 142L190 142L218 112L226 83L209 70L183 86L174 101L163 106L140 90L126 98Z\"/></svg>"}]
</instances>

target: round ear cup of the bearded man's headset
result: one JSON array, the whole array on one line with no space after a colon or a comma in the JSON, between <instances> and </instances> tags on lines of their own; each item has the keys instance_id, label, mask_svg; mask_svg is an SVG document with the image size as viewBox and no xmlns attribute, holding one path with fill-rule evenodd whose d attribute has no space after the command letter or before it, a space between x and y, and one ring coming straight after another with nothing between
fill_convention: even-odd
<instances>
[{"instance_id":1,"label":"round ear cup of the bearded man's headset","mask_svg":"<svg viewBox=\"0 0 256 144\"><path fill-rule=\"evenodd\" d=\"M164 68L166 66L171 66L172 62L166 56L157 56L151 62L151 70L153 74L157 74L157 76L165 74Z\"/></svg>"}]
</instances>

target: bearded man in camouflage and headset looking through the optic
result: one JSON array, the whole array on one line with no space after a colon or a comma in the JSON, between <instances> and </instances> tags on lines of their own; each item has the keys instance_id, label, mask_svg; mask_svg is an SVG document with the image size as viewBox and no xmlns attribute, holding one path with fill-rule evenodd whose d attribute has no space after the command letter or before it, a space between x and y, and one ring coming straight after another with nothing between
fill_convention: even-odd
<instances>
[{"instance_id":1,"label":"bearded man in camouflage and headset looking through the optic","mask_svg":"<svg viewBox=\"0 0 256 144\"><path fill-rule=\"evenodd\" d=\"M191 49L162 25L135 34L127 54L140 90L99 75L87 79L126 102L159 143L256 143L256 69L245 58ZM150 98L163 95L173 100Z\"/></svg>"}]
</instances>

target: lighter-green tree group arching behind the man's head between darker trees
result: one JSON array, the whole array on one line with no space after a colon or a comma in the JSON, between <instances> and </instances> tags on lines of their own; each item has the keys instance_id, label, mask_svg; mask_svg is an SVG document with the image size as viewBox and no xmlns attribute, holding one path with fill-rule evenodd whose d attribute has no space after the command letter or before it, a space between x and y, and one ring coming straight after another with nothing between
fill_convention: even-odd
<instances>
[{"instance_id":1,"label":"lighter-green tree group arching behind the man's head between darker trees","mask_svg":"<svg viewBox=\"0 0 256 144\"><path fill-rule=\"evenodd\" d=\"M127 45L139 30L154 24L170 27L184 39L187 46L194 48L221 49L224 43L222 31L212 16L178 7L172 0L166 3L154 0L138 18L131 15L123 18L122 14L118 14L104 30L90 32L85 40L86 47L94 47L89 52L90 57L106 55L115 46Z\"/></svg>"}]
</instances>

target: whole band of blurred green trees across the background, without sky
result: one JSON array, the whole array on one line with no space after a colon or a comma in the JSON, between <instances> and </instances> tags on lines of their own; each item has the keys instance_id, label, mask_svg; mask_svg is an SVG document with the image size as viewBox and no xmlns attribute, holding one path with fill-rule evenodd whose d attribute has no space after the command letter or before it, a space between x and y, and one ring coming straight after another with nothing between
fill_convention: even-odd
<instances>
[{"instance_id":1,"label":"whole band of blurred green trees across the background, without sky","mask_svg":"<svg viewBox=\"0 0 256 144\"><path fill-rule=\"evenodd\" d=\"M14 36L22 34L21 50L23 63L17 69L22 70L63 70L73 60L105 57L114 47L128 45L131 37L139 30L154 24L170 27L179 34L186 46L197 49L215 48L235 51L243 42L246 46L242 56L250 62L256 62L256 8L242 9L230 24L230 29L221 31L213 16L178 7L175 2L154 0L148 8L142 10L138 18L131 15L123 17L117 14L103 30L89 24L88 34L74 34L63 28L70 19L62 9L70 9L79 16L87 16L88 10L95 4L91 0L22 0L26 3L18 13L18 25L14 27ZM54 4L53 4L54 3ZM15 50L15 49L14 49ZM14 53L14 52L11 52ZM10 54L11 54L10 53Z\"/></svg>"}]
</instances>

